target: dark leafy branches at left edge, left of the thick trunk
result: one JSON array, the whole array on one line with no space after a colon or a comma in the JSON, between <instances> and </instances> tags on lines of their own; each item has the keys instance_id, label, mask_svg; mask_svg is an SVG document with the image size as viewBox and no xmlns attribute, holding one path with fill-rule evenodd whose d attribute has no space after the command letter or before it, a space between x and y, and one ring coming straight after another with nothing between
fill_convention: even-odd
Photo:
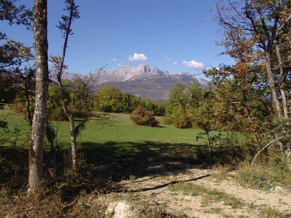
<instances>
[{"instance_id":1,"label":"dark leafy branches at left edge, left of the thick trunk","mask_svg":"<svg viewBox=\"0 0 291 218\"><path fill-rule=\"evenodd\" d=\"M0 20L7 20L9 25L24 25L31 29L33 12L26 6L17 7L17 0L0 1ZM23 62L31 60L33 54L31 47L26 47L22 42L9 40L5 33L0 31L0 100L2 103L11 103L15 97L15 76Z\"/></svg>"}]
</instances>

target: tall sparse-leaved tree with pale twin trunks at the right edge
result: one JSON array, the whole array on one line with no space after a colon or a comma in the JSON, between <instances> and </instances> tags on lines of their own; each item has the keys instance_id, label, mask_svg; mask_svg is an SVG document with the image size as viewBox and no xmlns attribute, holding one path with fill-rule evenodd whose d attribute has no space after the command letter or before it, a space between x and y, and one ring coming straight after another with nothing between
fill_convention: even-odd
<instances>
[{"instance_id":1,"label":"tall sparse-leaved tree with pale twin trunks at the right edge","mask_svg":"<svg viewBox=\"0 0 291 218\"><path fill-rule=\"evenodd\" d=\"M290 78L290 1L227 0L227 5L224 2L215 1L214 20L225 37L222 42L225 53L231 55L233 49L239 48L241 37L235 37L235 34L240 31L252 43L250 48L265 68L278 117L288 119L288 91L285 88L290 83L286 79Z\"/></svg>"}]
</instances>

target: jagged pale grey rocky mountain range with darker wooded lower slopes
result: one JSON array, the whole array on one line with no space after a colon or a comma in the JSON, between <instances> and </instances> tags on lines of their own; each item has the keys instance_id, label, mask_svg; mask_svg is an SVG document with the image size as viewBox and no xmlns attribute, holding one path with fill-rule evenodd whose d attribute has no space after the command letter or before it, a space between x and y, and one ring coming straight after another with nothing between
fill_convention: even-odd
<instances>
[{"instance_id":1,"label":"jagged pale grey rocky mountain range with darker wooded lower slopes","mask_svg":"<svg viewBox=\"0 0 291 218\"><path fill-rule=\"evenodd\" d=\"M93 75L96 73L93 73ZM84 78L84 75L63 72L63 80L74 80L74 78ZM141 99L149 98L152 101L167 101L169 88L176 83L189 85L198 82L201 87L206 87L208 81L194 76L188 72L178 74L169 73L167 70L161 71L156 66L148 67L141 64L138 67L124 65L121 69L111 69L101 71L96 75L97 82L94 84L95 90L109 84L116 85L122 92L128 92L139 96ZM50 78L56 82L55 71L50 70Z\"/></svg>"}]
</instances>

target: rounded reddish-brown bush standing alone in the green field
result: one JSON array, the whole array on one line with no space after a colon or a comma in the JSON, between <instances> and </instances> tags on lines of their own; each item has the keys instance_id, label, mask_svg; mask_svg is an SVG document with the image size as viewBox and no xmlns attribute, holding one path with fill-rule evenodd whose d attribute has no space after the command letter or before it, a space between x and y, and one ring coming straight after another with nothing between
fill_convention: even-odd
<instances>
[{"instance_id":1,"label":"rounded reddish-brown bush standing alone in the green field","mask_svg":"<svg viewBox=\"0 0 291 218\"><path fill-rule=\"evenodd\" d=\"M142 106L137 107L132 114L130 115L130 119L136 124L140 126L152 126L158 127L159 121L155 119L154 113L148 110L143 110Z\"/></svg>"}]
</instances>

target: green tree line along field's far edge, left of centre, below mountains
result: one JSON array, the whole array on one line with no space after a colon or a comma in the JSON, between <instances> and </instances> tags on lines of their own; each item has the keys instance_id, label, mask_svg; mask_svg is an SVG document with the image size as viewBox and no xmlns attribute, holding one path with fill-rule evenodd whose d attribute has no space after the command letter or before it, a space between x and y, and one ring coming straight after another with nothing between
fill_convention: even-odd
<instances>
[{"instance_id":1,"label":"green tree line along field's far edge, left of centre, below mountains","mask_svg":"<svg viewBox=\"0 0 291 218\"><path fill-rule=\"evenodd\" d=\"M23 88L19 86L19 88ZM28 94L29 92L26 91ZM24 92L17 92L12 109L18 112L23 112L24 116L28 118L32 116L34 110L34 97L31 94L29 101L27 101ZM71 81L63 81L63 93L66 101L70 102L68 108L74 114L74 117L81 118L84 116L82 111L82 99L74 92ZM122 93L120 88L114 85L107 85L100 90L95 91L93 99L94 110L100 112L113 113L132 113L137 107L142 106L144 110L152 112L156 116L162 116L165 113L166 103L154 102L150 99L141 99L134 94ZM29 107L29 110L26 108ZM48 119L58 121L68 121L62 108L61 93L57 85L49 86L49 98L47 101ZM29 112L31 112L29 114Z\"/></svg>"}]
</instances>

